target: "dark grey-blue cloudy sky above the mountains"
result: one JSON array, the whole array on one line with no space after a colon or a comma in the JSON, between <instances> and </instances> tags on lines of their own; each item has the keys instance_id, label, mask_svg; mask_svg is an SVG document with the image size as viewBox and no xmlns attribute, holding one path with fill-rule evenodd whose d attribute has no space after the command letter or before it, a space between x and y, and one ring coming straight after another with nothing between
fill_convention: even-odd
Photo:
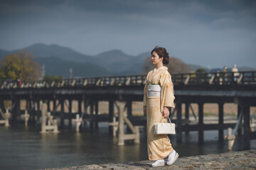
<instances>
[{"instance_id":1,"label":"dark grey-blue cloudy sky above the mountains","mask_svg":"<svg viewBox=\"0 0 256 170\"><path fill-rule=\"evenodd\" d=\"M256 1L0 0L0 49L35 43L85 55L157 45L187 64L256 68Z\"/></svg>"}]
</instances>

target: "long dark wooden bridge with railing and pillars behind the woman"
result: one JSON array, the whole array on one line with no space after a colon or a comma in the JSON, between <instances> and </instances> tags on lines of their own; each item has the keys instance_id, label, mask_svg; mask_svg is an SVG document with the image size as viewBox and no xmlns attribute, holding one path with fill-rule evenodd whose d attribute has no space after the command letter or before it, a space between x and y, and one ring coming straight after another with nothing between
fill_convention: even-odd
<instances>
[{"instance_id":1,"label":"long dark wooden bridge with railing and pillars behind the woman","mask_svg":"<svg viewBox=\"0 0 256 170\"><path fill-rule=\"evenodd\" d=\"M250 107L256 106L256 72L207 72L171 74L174 82L176 108L170 113L177 115L176 132L177 140L181 141L182 132L198 131L198 140L203 141L204 130L218 130L219 139L223 140L223 130L235 128L235 133L243 137L244 147L250 147L250 140L256 139L256 133L250 130ZM6 111L4 101L11 101L11 120L20 118L22 113L20 101L26 100L26 109L30 114L30 120L36 121L41 116L40 103L53 103L50 111L53 116L60 118L60 127L64 120L75 118L72 113L72 101L78 101L78 114L83 119L90 121L90 127L96 127L102 121L112 122L114 117L115 101L125 102L127 118L134 125L146 125L145 116L132 116L132 101L143 101L143 89L146 83L146 75L124 77L95 77L81 79L63 79L53 81L31 82L4 82L0 88L0 108ZM67 104L68 101L68 104ZM98 102L109 102L109 114L98 114ZM198 104L198 122L191 125L189 111L191 103ZM218 103L218 123L205 124L203 122L204 103ZM224 103L238 104L238 123L224 123ZM64 111L64 105L69 108ZM84 111L82 111L82 104ZM185 104L185 119L181 119L181 105ZM56 108L60 106L60 112ZM90 113L87 108L90 107ZM117 106L118 107L118 106ZM191 110L193 111L193 110ZM196 113L193 113L196 114ZM110 127L110 131L112 127Z\"/></svg>"}]
</instances>

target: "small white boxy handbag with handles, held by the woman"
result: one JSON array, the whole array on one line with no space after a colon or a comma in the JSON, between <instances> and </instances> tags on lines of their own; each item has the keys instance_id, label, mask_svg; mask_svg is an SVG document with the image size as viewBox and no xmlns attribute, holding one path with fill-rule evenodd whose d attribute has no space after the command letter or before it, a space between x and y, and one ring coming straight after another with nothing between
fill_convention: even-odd
<instances>
[{"instance_id":1,"label":"small white boxy handbag with handles, held by the woman","mask_svg":"<svg viewBox=\"0 0 256 170\"><path fill-rule=\"evenodd\" d=\"M171 123L170 118L168 118L170 123L163 123L164 117L161 119L160 123L155 123L154 134L175 134L175 123Z\"/></svg>"}]
</instances>

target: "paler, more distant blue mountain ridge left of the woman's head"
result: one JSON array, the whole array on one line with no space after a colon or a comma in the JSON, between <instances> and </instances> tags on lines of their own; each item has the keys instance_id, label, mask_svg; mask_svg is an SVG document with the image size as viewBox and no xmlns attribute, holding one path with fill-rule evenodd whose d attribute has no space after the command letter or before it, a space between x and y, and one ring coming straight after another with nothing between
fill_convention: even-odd
<instances>
[{"instance_id":1,"label":"paler, more distant blue mountain ridge left of the woman's head","mask_svg":"<svg viewBox=\"0 0 256 170\"><path fill-rule=\"evenodd\" d=\"M102 52L99 55L84 55L80 52L76 52L68 47L62 47L60 45L45 45L38 43L25 48L31 51L36 57L57 57L61 60L70 62L90 62L98 67L106 69L108 72L119 72L119 74L129 74L131 68L136 64L138 67L133 72L140 74L142 67L139 64L144 63L146 56L149 53L142 53L137 56L127 55L121 50L110 50Z\"/></svg>"}]
</instances>

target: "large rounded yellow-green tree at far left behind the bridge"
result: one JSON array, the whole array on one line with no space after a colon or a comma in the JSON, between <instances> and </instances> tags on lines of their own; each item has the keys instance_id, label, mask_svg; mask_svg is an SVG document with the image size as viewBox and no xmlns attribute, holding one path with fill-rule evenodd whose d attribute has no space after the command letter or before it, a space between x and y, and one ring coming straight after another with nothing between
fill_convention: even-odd
<instances>
[{"instance_id":1,"label":"large rounded yellow-green tree at far left behind the bridge","mask_svg":"<svg viewBox=\"0 0 256 170\"><path fill-rule=\"evenodd\" d=\"M20 79L21 81L35 81L40 78L41 67L33 61L35 56L27 50L6 55L0 62L0 80Z\"/></svg>"}]
</instances>

